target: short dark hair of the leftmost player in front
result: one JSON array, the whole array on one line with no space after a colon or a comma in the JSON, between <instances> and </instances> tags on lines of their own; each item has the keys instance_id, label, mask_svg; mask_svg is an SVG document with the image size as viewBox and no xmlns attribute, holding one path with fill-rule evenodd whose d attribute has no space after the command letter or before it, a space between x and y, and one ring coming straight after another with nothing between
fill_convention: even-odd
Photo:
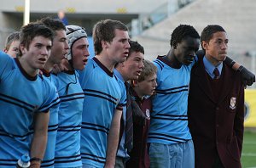
<instances>
[{"instance_id":1,"label":"short dark hair of the leftmost player in front","mask_svg":"<svg viewBox=\"0 0 256 168\"><path fill-rule=\"evenodd\" d=\"M39 24L39 23L29 23L20 28L20 44L22 44L26 49L29 49L29 45L36 36L44 36L53 41L54 32L49 29L49 27ZM21 56L21 52L19 53Z\"/></svg>"}]
</instances>

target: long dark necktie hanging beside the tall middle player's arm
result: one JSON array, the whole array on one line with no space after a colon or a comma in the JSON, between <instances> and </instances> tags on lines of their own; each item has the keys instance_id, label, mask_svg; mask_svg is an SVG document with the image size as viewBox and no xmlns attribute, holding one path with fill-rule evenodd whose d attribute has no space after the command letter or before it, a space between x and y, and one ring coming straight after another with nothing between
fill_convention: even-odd
<instances>
[{"instance_id":1,"label":"long dark necktie hanging beside the tall middle player's arm","mask_svg":"<svg viewBox=\"0 0 256 168\"><path fill-rule=\"evenodd\" d=\"M126 123L125 123L125 148L130 153L133 147L133 121L131 108L131 95L129 93L130 84L125 82L127 104L126 104Z\"/></svg>"}]
</instances>

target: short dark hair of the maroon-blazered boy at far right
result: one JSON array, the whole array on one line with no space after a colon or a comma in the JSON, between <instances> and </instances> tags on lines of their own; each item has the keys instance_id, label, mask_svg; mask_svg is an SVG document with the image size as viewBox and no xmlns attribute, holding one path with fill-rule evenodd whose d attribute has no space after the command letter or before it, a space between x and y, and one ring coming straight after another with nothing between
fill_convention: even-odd
<instances>
[{"instance_id":1,"label":"short dark hair of the maroon-blazered boy at far right","mask_svg":"<svg viewBox=\"0 0 256 168\"><path fill-rule=\"evenodd\" d=\"M218 31L224 31L224 28L220 25L207 25L203 31L201 31L201 42L210 42L214 33Z\"/></svg>"}]
</instances>

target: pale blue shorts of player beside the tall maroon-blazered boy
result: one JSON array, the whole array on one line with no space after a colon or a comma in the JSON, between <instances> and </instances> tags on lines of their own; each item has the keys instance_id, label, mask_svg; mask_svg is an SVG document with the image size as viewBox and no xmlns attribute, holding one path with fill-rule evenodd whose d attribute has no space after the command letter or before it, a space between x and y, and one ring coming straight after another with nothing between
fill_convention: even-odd
<instances>
[{"instance_id":1,"label":"pale blue shorts of player beside the tall maroon-blazered boy","mask_svg":"<svg viewBox=\"0 0 256 168\"><path fill-rule=\"evenodd\" d=\"M150 168L194 168L195 150L192 140L177 144L150 143Z\"/></svg>"}]
</instances>

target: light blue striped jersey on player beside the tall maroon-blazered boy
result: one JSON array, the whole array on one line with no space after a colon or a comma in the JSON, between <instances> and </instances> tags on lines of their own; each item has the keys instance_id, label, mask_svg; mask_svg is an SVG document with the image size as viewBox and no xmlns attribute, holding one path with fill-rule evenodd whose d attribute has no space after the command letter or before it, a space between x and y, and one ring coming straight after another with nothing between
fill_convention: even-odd
<instances>
[{"instance_id":1,"label":"light blue striped jersey on player beside the tall maroon-blazered boy","mask_svg":"<svg viewBox=\"0 0 256 168\"><path fill-rule=\"evenodd\" d=\"M153 97L148 143L174 144L191 139L188 127L190 71L195 61L174 69L164 57L154 60L157 66L156 95Z\"/></svg>"}]
</instances>

